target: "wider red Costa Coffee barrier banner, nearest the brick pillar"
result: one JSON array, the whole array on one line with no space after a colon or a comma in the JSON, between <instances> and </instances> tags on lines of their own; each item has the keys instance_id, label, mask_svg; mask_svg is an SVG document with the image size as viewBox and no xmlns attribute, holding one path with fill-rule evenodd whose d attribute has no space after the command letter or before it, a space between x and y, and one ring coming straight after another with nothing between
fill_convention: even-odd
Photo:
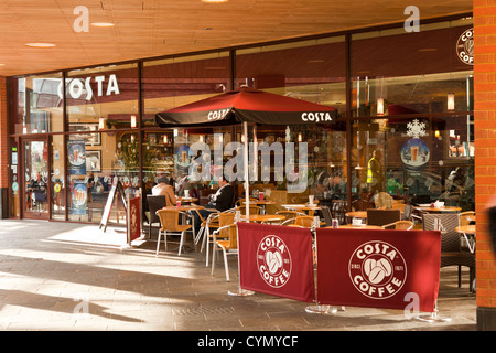
<instances>
[{"instance_id":1,"label":"wider red Costa Coffee barrier banner, nearest the brick pillar","mask_svg":"<svg viewBox=\"0 0 496 353\"><path fill-rule=\"evenodd\" d=\"M440 232L317 228L316 244L321 303L434 311Z\"/></svg>"}]
</instances>

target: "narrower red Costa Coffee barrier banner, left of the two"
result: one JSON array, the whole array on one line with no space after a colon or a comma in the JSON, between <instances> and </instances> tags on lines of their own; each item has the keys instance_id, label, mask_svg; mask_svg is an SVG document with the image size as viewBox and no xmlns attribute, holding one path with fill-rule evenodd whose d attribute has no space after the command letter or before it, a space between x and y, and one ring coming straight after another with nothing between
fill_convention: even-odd
<instances>
[{"instance_id":1,"label":"narrower red Costa Coffee barrier banner, left of the two","mask_svg":"<svg viewBox=\"0 0 496 353\"><path fill-rule=\"evenodd\" d=\"M242 289L314 301L310 229L239 222L238 248Z\"/></svg>"}]
</instances>

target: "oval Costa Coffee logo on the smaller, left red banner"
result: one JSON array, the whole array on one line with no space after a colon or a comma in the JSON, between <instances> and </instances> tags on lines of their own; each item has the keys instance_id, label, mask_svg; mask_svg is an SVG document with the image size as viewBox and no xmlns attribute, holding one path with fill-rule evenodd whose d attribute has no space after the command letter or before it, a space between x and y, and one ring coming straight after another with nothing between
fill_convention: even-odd
<instances>
[{"instance_id":1,"label":"oval Costa Coffee logo on the smaller, left red banner","mask_svg":"<svg viewBox=\"0 0 496 353\"><path fill-rule=\"evenodd\" d=\"M283 287L291 276L291 254L285 243L268 235L258 244L257 266L260 276L272 288Z\"/></svg>"}]
</instances>

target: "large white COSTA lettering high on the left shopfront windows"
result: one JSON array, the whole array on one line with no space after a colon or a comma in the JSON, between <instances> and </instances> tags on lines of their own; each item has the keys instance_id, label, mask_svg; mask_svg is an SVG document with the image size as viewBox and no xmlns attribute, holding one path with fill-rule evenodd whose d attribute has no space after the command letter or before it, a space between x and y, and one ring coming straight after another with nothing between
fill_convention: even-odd
<instances>
[{"instance_id":1,"label":"large white COSTA lettering high on the left shopfront windows","mask_svg":"<svg viewBox=\"0 0 496 353\"><path fill-rule=\"evenodd\" d=\"M117 84L117 77L115 74L111 74L108 76L108 79L105 75L101 76L89 76L85 79L83 78L69 78L66 79L67 86L67 97L73 99L86 99L90 100L95 94L98 97L101 97L104 95L110 96L110 95L118 95L119 92L119 85ZM91 84L96 83L96 93L94 93ZM107 83L107 89L104 89L104 83ZM62 99L62 81L58 84L58 97Z\"/></svg>"}]
</instances>

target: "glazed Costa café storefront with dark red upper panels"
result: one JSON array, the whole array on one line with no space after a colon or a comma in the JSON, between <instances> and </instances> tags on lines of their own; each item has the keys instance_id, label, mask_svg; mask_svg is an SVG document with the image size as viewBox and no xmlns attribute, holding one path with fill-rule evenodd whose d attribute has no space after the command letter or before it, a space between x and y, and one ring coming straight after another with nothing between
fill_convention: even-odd
<instances>
[{"instance_id":1,"label":"glazed Costa caf\u00e9 storefront with dark red upper panels","mask_svg":"<svg viewBox=\"0 0 496 353\"><path fill-rule=\"evenodd\" d=\"M116 178L126 193L150 193L162 172L179 182L192 143L241 141L240 127L162 129L155 114L241 85L337 113L332 124L251 129L259 142L306 142L309 165L303 193L288 193L274 173L261 181L261 170L251 191L288 203L342 200L349 210L384 190L474 210L472 26L467 13L422 22L420 32L401 22L9 77L9 217L98 223ZM384 178L371 181L376 150ZM110 217L121 211L118 203Z\"/></svg>"}]
</instances>

